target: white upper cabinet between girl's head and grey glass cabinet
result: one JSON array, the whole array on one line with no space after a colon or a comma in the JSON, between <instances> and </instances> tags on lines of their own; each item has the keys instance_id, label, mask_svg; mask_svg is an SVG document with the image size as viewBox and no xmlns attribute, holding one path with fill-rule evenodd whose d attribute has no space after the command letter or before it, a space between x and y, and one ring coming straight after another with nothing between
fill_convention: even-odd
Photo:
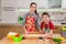
<instances>
[{"instance_id":1,"label":"white upper cabinet between girl's head and grey glass cabinet","mask_svg":"<svg viewBox=\"0 0 66 44\"><path fill-rule=\"evenodd\" d=\"M32 2L36 2L38 8L48 8L48 0L32 0Z\"/></svg>"}]
</instances>

